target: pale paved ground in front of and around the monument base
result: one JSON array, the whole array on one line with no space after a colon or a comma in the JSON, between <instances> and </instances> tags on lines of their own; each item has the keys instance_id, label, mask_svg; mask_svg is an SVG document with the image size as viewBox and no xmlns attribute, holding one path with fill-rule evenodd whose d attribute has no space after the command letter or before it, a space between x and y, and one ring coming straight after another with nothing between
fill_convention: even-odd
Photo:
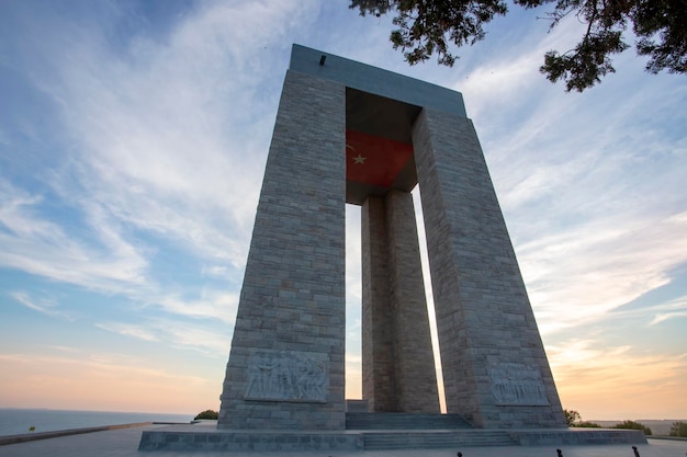
<instances>
[{"instance_id":1,"label":"pale paved ground in front of and around the monument base","mask_svg":"<svg viewBox=\"0 0 687 457\"><path fill-rule=\"evenodd\" d=\"M109 430L0 446L0 457L556 457L555 446L465 447L462 449L408 449L362 452L183 453L138 452L140 433L165 425ZM629 445L559 446L563 457L634 457ZM649 439L637 445L641 457L685 457L687 441Z\"/></svg>"}]
</instances>

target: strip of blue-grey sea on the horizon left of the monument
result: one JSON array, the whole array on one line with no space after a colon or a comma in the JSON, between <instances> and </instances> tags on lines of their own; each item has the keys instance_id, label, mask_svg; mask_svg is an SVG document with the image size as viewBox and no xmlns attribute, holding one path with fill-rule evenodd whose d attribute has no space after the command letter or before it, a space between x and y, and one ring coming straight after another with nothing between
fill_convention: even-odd
<instances>
[{"instance_id":1,"label":"strip of blue-grey sea on the horizon left of the monument","mask_svg":"<svg viewBox=\"0 0 687 457\"><path fill-rule=\"evenodd\" d=\"M195 414L0 408L0 436L139 422L189 423ZM33 427L33 431L31 430Z\"/></svg>"}]
</instances>

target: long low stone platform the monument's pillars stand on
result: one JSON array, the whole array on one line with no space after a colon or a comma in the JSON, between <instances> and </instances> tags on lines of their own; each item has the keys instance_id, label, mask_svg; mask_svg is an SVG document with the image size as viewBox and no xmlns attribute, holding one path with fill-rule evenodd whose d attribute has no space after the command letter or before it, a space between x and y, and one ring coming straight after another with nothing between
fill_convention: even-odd
<instances>
[{"instance_id":1,"label":"long low stone platform the monument's pillars stand on","mask_svg":"<svg viewBox=\"0 0 687 457\"><path fill-rule=\"evenodd\" d=\"M374 415L374 413L370 413ZM426 415L426 414L424 414ZM440 414L437 414L440 415ZM642 431L619 429L427 429L257 431L217 429L214 421L145 431L138 450L293 452L429 449L470 446L646 444Z\"/></svg>"}]
</instances>

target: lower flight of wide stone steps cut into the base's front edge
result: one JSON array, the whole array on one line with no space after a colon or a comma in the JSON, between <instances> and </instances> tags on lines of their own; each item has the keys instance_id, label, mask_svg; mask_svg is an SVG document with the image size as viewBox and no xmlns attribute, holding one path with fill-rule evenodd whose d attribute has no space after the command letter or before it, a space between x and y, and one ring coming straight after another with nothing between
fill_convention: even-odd
<instances>
[{"instance_id":1,"label":"lower flight of wide stone steps cut into the base's front edge","mask_svg":"<svg viewBox=\"0 0 687 457\"><path fill-rule=\"evenodd\" d=\"M363 432L365 450L517 445L518 442L503 431Z\"/></svg>"}]
</instances>

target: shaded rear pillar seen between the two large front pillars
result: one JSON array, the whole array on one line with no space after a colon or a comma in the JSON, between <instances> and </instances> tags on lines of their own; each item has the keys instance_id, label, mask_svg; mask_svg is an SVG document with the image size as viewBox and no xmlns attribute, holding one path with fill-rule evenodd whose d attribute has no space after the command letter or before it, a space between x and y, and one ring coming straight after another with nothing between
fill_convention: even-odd
<instances>
[{"instance_id":1,"label":"shaded rear pillar seen between the two large front pillars","mask_svg":"<svg viewBox=\"0 0 687 457\"><path fill-rule=\"evenodd\" d=\"M439 413L413 197L362 205L362 395L373 412Z\"/></svg>"}]
</instances>

